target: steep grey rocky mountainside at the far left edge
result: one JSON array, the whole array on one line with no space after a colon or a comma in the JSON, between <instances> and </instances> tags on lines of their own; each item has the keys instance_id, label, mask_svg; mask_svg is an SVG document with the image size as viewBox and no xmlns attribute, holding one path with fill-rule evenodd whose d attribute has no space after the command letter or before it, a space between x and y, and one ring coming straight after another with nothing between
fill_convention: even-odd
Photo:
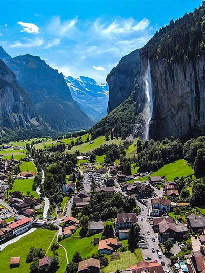
<instances>
[{"instance_id":1,"label":"steep grey rocky mountainside at the far left edge","mask_svg":"<svg viewBox=\"0 0 205 273\"><path fill-rule=\"evenodd\" d=\"M15 74L0 60L0 139L22 139L48 133L44 124L17 82Z\"/></svg>"}]
</instances>

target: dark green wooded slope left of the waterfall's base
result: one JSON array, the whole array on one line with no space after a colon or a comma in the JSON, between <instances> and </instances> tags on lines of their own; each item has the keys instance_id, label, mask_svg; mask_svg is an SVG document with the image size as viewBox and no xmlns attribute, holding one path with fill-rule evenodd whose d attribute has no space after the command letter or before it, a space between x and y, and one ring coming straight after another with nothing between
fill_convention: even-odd
<instances>
[{"instance_id":1,"label":"dark green wooded slope left of the waterfall's base","mask_svg":"<svg viewBox=\"0 0 205 273\"><path fill-rule=\"evenodd\" d=\"M116 137L126 138L132 132L135 123L135 94L121 103L91 128L92 139L98 136L111 134Z\"/></svg>"}]
</instances>

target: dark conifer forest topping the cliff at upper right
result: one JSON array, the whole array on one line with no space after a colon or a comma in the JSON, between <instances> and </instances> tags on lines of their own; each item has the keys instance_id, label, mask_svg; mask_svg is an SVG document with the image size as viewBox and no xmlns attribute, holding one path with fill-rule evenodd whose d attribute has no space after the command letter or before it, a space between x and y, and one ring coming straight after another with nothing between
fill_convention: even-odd
<instances>
[{"instance_id":1,"label":"dark conifer forest topping the cliff at upper right","mask_svg":"<svg viewBox=\"0 0 205 273\"><path fill-rule=\"evenodd\" d=\"M183 62L205 53L205 2L194 12L185 14L162 27L140 50L150 60Z\"/></svg>"}]
</instances>

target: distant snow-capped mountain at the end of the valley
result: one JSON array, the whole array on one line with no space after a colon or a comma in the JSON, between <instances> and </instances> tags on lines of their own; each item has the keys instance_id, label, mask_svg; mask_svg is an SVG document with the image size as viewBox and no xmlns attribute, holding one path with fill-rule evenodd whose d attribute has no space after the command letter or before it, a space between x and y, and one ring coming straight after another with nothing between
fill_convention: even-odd
<instances>
[{"instance_id":1,"label":"distant snow-capped mountain at the end of the valley","mask_svg":"<svg viewBox=\"0 0 205 273\"><path fill-rule=\"evenodd\" d=\"M99 85L94 79L80 76L65 77L65 81L71 91L74 100L81 109L94 121L98 121L107 113L108 85Z\"/></svg>"}]
</instances>

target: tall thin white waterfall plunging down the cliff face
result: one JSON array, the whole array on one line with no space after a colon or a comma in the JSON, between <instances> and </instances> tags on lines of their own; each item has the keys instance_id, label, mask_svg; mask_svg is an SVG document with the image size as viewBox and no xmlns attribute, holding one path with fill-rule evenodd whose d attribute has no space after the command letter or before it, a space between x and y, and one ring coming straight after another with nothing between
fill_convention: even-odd
<instances>
[{"instance_id":1,"label":"tall thin white waterfall plunging down the cliff face","mask_svg":"<svg viewBox=\"0 0 205 273\"><path fill-rule=\"evenodd\" d=\"M150 62L148 60L147 71L144 74L145 94L146 94L146 106L145 106L145 139L149 139L149 123L153 112L153 100L152 100L152 79L150 73Z\"/></svg>"}]
</instances>

